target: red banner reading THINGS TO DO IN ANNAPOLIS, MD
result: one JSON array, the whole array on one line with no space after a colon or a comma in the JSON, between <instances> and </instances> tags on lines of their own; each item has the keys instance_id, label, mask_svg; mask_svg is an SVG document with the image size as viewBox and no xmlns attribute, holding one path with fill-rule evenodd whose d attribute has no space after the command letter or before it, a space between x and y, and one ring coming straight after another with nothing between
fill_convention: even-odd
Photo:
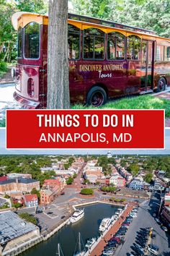
<instances>
[{"instance_id":1,"label":"red banner reading THINGS TO DO IN ANNAPOLIS, MD","mask_svg":"<svg viewBox=\"0 0 170 256\"><path fill-rule=\"evenodd\" d=\"M164 148L164 111L7 110L6 148Z\"/></svg>"}]
</instances>

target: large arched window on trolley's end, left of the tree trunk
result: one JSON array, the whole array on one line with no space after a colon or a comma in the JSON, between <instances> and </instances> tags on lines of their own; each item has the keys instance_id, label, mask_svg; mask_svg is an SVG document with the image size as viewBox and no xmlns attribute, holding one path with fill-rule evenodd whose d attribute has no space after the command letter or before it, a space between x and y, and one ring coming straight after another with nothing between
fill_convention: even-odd
<instances>
[{"instance_id":1,"label":"large arched window on trolley's end, left of the tree trunk","mask_svg":"<svg viewBox=\"0 0 170 256\"><path fill-rule=\"evenodd\" d=\"M40 56L40 25L30 22L24 27L24 57L38 59Z\"/></svg>"}]
</instances>

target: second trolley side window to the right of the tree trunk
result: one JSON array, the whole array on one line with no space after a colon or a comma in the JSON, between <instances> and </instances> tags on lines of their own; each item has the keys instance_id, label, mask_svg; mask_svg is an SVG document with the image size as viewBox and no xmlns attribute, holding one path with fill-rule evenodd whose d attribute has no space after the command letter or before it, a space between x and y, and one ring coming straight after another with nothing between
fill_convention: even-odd
<instances>
[{"instance_id":1,"label":"second trolley side window to the right of the tree trunk","mask_svg":"<svg viewBox=\"0 0 170 256\"><path fill-rule=\"evenodd\" d=\"M104 32L96 28L84 30L84 59L104 59Z\"/></svg>"}]
</instances>

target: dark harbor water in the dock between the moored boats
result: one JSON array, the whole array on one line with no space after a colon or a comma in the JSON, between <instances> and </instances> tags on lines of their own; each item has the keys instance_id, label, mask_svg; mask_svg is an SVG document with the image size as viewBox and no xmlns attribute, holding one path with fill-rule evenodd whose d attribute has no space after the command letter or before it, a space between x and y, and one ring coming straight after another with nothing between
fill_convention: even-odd
<instances>
[{"instance_id":1,"label":"dark harbor water in the dock between the moored boats","mask_svg":"<svg viewBox=\"0 0 170 256\"><path fill-rule=\"evenodd\" d=\"M41 242L35 247L23 252L23 256L56 256L58 243L64 256L73 256L79 232L84 245L91 237L99 236L99 225L103 218L115 215L117 206L97 203L84 206L84 217L76 223L64 226L46 242ZM62 255L62 254L61 254Z\"/></svg>"}]
</instances>

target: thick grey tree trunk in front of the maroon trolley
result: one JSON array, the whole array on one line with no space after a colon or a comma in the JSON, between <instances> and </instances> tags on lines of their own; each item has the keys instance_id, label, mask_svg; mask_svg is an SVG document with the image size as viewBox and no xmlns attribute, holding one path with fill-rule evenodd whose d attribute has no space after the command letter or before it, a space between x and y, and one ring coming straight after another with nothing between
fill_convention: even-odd
<instances>
[{"instance_id":1,"label":"thick grey tree trunk in front of the maroon trolley","mask_svg":"<svg viewBox=\"0 0 170 256\"><path fill-rule=\"evenodd\" d=\"M48 11L48 108L69 108L68 0L50 0Z\"/></svg>"}]
</instances>

